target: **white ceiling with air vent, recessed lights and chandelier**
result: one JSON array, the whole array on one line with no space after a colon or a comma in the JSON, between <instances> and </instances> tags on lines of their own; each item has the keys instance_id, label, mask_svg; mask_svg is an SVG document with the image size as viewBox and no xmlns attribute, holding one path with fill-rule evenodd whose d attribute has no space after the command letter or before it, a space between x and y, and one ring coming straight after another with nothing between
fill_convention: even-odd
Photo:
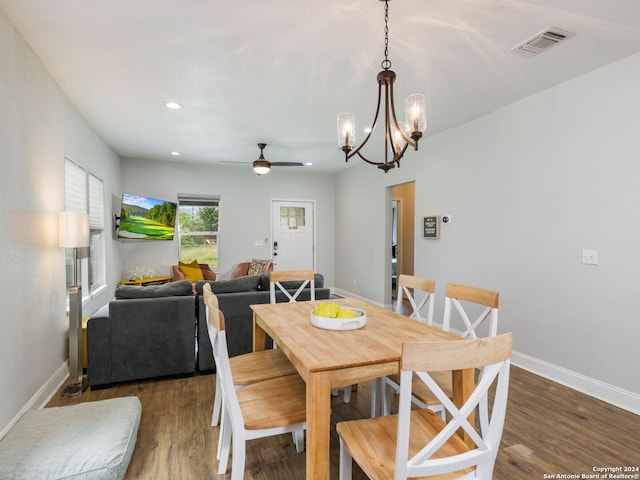
<instances>
[{"instance_id":1,"label":"white ceiling with air vent, recessed lights and chandelier","mask_svg":"<svg viewBox=\"0 0 640 480\"><path fill-rule=\"evenodd\" d=\"M373 120L384 53L378 0L0 0L0 8L123 157L251 162L266 142L268 160L312 162L297 167L304 171L361 162L345 165L336 115L355 113L358 140ZM511 51L549 26L575 36L534 57ZM638 0L389 3L396 103L426 95L426 137L638 51ZM169 100L183 108L167 109Z\"/></svg>"}]
</instances>

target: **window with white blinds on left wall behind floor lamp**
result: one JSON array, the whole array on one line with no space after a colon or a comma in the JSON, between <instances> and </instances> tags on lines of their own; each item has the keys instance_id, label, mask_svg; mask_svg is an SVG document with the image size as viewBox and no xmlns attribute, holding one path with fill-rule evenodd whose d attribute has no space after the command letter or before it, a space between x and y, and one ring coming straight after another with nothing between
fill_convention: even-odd
<instances>
[{"instance_id":1,"label":"window with white blinds on left wall behind floor lamp","mask_svg":"<svg viewBox=\"0 0 640 480\"><path fill-rule=\"evenodd\" d=\"M95 175L65 158L66 211L89 214L88 253L81 252L80 282L84 292L94 292L105 284L104 183ZM73 283L73 249L66 251L67 286Z\"/></svg>"}]
</instances>

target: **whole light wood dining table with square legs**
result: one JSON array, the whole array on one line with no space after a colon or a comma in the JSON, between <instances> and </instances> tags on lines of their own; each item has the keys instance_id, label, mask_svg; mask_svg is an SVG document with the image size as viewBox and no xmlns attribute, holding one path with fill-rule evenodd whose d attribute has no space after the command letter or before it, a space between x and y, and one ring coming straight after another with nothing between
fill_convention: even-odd
<instances>
[{"instance_id":1,"label":"whole light wood dining table with square legs","mask_svg":"<svg viewBox=\"0 0 640 480\"><path fill-rule=\"evenodd\" d=\"M311 323L321 303L360 309L366 324L329 330ZM400 371L407 341L455 341L461 337L360 298L252 305L253 350L264 350L268 335L306 382L306 478L329 479L331 390ZM461 406L474 386L474 370L453 371L453 402Z\"/></svg>"}]
</instances>

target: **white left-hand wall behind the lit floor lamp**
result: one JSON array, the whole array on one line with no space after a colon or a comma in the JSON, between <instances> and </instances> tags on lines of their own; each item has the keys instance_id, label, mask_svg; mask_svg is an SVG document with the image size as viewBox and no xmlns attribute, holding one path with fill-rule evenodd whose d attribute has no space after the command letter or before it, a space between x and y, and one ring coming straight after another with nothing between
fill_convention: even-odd
<instances>
[{"instance_id":1,"label":"white left-hand wall behind the lit floor lamp","mask_svg":"<svg viewBox=\"0 0 640 480\"><path fill-rule=\"evenodd\" d=\"M0 437L68 374L64 252L57 246L65 154L102 178L106 192L120 189L118 157L0 9ZM107 255L118 264L114 247L107 242ZM111 292L87 303L85 312Z\"/></svg>"}]
</instances>

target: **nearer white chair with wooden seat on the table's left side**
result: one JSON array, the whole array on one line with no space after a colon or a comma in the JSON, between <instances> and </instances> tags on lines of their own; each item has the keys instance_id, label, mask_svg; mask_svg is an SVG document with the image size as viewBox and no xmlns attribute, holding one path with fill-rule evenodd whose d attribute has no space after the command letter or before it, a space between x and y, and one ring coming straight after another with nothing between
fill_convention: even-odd
<instances>
[{"instance_id":1,"label":"nearer white chair with wooden seat on the table's left side","mask_svg":"<svg viewBox=\"0 0 640 480\"><path fill-rule=\"evenodd\" d=\"M293 433L296 449L304 450L306 429L306 384L298 374L287 375L248 385L236 390L233 382L224 314L210 298L207 329L217 379L223 397L223 421L219 446L218 474L225 474L233 439L231 480L242 480L247 441Z\"/></svg>"}]
</instances>

